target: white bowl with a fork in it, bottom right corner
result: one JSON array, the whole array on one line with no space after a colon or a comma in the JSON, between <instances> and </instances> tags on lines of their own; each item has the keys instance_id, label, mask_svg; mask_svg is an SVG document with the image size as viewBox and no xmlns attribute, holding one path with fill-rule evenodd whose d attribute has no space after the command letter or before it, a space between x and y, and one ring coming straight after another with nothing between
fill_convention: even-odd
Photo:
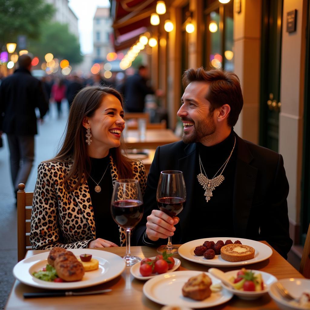
<instances>
[{"instance_id":1,"label":"white bowl with a fork in it, bottom right corner","mask_svg":"<svg viewBox=\"0 0 310 310\"><path fill-rule=\"evenodd\" d=\"M303 292L310 292L310 280L303 278L290 278L290 279L281 279L277 282L280 282L286 290L296 299L299 299ZM283 310L293 310L293 309L306 309L301 305L294 304L292 301L284 299L276 286L277 283L273 283L269 288L269 295L275 301L277 306Z\"/></svg>"}]
</instances>

